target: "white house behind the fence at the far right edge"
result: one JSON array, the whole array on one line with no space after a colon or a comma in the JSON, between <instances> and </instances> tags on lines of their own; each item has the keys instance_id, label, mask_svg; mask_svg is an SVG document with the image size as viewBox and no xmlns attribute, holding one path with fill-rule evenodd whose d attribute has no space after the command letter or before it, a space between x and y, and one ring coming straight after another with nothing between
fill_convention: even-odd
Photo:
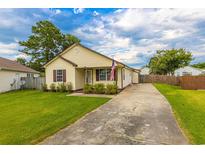
<instances>
[{"instance_id":1,"label":"white house behind the fence at the far right edge","mask_svg":"<svg viewBox=\"0 0 205 154\"><path fill-rule=\"evenodd\" d=\"M185 66L185 67L182 67L182 68L175 70L175 72L174 72L175 76L185 76L185 75L195 76L195 75L201 75L201 74L205 74L205 70L195 68L192 66Z\"/></svg>"}]
</instances>

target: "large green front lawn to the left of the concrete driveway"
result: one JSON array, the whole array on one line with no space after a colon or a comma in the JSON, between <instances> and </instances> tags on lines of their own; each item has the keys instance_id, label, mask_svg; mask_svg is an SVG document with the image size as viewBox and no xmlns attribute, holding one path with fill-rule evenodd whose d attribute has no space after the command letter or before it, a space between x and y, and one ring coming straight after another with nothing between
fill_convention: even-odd
<instances>
[{"instance_id":1,"label":"large green front lawn to the left of the concrete driveway","mask_svg":"<svg viewBox=\"0 0 205 154\"><path fill-rule=\"evenodd\" d=\"M35 144L109 98L34 90L0 94L0 144Z\"/></svg>"}]
</instances>

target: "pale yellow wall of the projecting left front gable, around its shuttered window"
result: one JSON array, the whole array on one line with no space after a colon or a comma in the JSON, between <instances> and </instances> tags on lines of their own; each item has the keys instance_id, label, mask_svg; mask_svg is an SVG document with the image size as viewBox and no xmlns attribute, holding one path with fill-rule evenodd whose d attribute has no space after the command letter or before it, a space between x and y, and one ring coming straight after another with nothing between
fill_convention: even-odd
<instances>
[{"instance_id":1,"label":"pale yellow wall of the projecting left front gable, around its shuttered window","mask_svg":"<svg viewBox=\"0 0 205 154\"><path fill-rule=\"evenodd\" d=\"M62 82L53 82L53 70L57 69L65 69L66 70L66 82L71 82L73 86L73 90L76 89L76 83L75 83L75 67L73 65L65 62L64 60L58 58L52 63L50 63L45 68L46 73L46 84L48 85L48 89L50 87L50 84L55 83L62 83Z\"/></svg>"}]
</instances>

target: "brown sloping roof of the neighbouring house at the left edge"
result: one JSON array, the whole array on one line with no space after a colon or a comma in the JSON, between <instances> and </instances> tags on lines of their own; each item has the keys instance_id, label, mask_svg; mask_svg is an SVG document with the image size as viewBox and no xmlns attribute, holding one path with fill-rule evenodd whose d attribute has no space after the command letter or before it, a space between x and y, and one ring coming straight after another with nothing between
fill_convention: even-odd
<instances>
[{"instance_id":1,"label":"brown sloping roof of the neighbouring house at the left edge","mask_svg":"<svg viewBox=\"0 0 205 154\"><path fill-rule=\"evenodd\" d=\"M26 72L26 73L39 73L38 71L26 67L16 61L9 60L2 57L0 57L0 70L10 70L10 71L18 71L18 72Z\"/></svg>"}]
</instances>

